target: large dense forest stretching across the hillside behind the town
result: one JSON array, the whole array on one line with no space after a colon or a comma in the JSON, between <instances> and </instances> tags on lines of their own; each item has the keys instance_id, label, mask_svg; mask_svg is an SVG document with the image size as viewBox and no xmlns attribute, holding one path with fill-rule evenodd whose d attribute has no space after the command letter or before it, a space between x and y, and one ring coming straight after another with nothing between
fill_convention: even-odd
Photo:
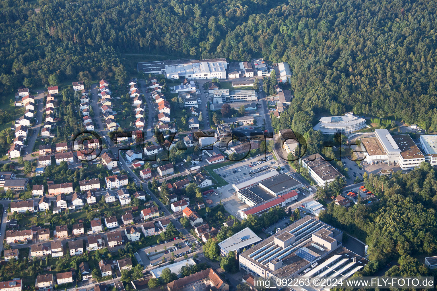
<instances>
[{"instance_id":1,"label":"large dense forest stretching across the hillside behind the town","mask_svg":"<svg viewBox=\"0 0 437 291\"><path fill-rule=\"evenodd\" d=\"M263 56L290 64L295 106L309 116L354 110L437 130L436 8L402 0L4 0L0 94L45 86L52 74L62 82L111 78L121 66L133 73L125 54Z\"/></svg>"}]
</instances>

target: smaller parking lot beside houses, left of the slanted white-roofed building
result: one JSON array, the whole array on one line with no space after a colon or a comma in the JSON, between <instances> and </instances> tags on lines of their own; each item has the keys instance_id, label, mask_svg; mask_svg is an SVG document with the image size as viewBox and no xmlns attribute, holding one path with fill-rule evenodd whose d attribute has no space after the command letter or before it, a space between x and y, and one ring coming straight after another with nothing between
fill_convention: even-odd
<instances>
[{"instance_id":1,"label":"smaller parking lot beside houses, left of the slanted white-roofed building","mask_svg":"<svg viewBox=\"0 0 437 291\"><path fill-rule=\"evenodd\" d=\"M173 255L175 259L177 259L184 257L185 253L192 253L192 245L193 244L188 240L168 240L160 245L152 245L148 248L141 249L138 254L135 254L135 258L146 267L151 267L159 264L163 257L165 257L166 261L169 261ZM199 244L195 244L195 247L196 250L198 250Z\"/></svg>"}]
</instances>

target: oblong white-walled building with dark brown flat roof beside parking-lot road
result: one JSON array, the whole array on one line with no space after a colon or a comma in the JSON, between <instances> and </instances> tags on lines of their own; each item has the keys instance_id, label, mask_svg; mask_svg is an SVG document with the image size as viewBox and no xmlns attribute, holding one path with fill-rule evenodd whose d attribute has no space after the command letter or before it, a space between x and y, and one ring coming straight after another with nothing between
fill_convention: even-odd
<instances>
[{"instance_id":1,"label":"oblong white-walled building with dark brown flat roof beside parking-lot road","mask_svg":"<svg viewBox=\"0 0 437 291\"><path fill-rule=\"evenodd\" d=\"M308 168L309 176L316 181L320 187L328 185L334 181L336 177L344 177L336 168L325 161L320 154L302 157L301 161L302 166Z\"/></svg>"}]
</instances>

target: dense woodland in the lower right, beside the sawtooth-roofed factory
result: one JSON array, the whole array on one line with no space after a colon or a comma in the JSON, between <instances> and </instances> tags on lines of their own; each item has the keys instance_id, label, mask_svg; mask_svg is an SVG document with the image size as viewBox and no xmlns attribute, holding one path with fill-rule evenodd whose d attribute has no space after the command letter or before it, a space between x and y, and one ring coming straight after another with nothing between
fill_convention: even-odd
<instances>
[{"instance_id":1,"label":"dense woodland in the lower right, beside the sawtooth-roofed factory","mask_svg":"<svg viewBox=\"0 0 437 291\"><path fill-rule=\"evenodd\" d=\"M437 250L436 181L436 169L425 162L407 174L398 171L392 177L365 173L364 185L381 201L348 209L331 203L320 219L368 244L371 262L364 268L366 272L374 272L393 259L400 263L419 253L433 255ZM416 264L421 265L422 260Z\"/></svg>"}]
</instances>

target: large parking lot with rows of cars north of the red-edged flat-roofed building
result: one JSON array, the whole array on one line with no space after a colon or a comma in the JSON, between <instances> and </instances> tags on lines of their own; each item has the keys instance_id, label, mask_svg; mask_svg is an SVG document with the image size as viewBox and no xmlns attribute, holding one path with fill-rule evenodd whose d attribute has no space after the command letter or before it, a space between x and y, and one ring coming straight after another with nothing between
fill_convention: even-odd
<instances>
[{"instance_id":1,"label":"large parking lot with rows of cars north of the red-edged flat-roofed building","mask_svg":"<svg viewBox=\"0 0 437 291\"><path fill-rule=\"evenodd\" d=\"M263 157L258 155L257 157L236 161L233 164L215 170L215 172L225 181L232 184L249 177L253 171L262 171L270 167L276 168L276 163L271 154L267 155L267 161L261 161L260 158Z\"/></svg>"}]
</instances>

